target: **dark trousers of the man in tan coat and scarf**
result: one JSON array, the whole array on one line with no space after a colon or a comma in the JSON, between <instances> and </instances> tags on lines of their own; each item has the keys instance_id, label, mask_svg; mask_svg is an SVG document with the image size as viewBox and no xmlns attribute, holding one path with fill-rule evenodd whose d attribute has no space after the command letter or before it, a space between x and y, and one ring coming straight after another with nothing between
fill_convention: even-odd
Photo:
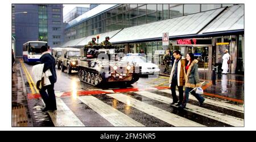
<instances>
[{"instance_id":1,"label":"dark trousers of the man in tan coat and scarf","mask_svg":"<svg viewBox=\"0 0 256 142\"><path fill-rule=\"evenodd\" d=\"M177 86L177 80L172 80L171 83L171 91L172 91L172 99L174 102L177 102L177 96L176 96L176 86ZM179 90L179 104L183 101L183 86L177 86Z\"/></svg>"}]
</instances>

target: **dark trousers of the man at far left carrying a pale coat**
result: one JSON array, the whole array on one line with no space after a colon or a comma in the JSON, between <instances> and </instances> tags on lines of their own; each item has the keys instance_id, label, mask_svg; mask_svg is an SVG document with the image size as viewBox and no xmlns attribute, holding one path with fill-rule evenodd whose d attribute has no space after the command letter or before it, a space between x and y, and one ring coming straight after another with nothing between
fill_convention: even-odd
<instances>
[{"instance_id":1,"label":"dark trousers of the man at far left carrying a pale coat","mask_svg":"<svg viewBox=\"0 0 256 142\"><path fill-rule=\"evenodd\" d=\"M47 90L47 93L46 93ZM40 91L41 97L49 110L56 110L56 97L54 93L54 84L44 86Z\"/></svg>"}]
</instances>

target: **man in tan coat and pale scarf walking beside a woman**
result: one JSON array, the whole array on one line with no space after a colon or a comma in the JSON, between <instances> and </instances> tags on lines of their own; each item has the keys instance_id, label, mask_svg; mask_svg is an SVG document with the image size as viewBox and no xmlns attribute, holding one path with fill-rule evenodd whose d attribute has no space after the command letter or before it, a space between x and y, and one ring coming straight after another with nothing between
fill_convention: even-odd
<instances>
[{"instance_id":1,"label":"man in tan coat and pale scarf walking beside a woman","mask_svg":"<svg viewBox=\"0 0 256 142\"><path fill-rule=\"evenodd\" d=\"M176 106L179 106L183 101L183 85L185 84L185 58L182 57L179 50L175 50L173 55L175 61L174 65L172 66L169 79L173 99L171 105L174 105L179 101L178 104L176 104ZM176 96L176 86L179 90L179 100Z\"/></svg>"}]
</instances>

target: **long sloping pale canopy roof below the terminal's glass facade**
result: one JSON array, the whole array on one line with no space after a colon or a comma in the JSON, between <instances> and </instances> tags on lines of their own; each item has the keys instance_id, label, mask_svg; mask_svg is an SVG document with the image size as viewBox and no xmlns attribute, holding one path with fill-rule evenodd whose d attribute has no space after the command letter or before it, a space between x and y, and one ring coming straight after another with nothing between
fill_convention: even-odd
<instances>
[{"instance_id":1,"label":"long sloping pale canopy roof below the terminal's glass facade","mask_svg":"<svg viewBox=\"0 0 256 142\"><path fill-rule=\"evenodd\" d=\"M243 10L243 5L233 5L228 8L222 7L197 14L119 29L109 33L101 33L99 43L105 40L105 36L109 36L110 42L113 44L121 44L126 42L147 41L148 39L161 40L164 32L168 32L170 38L210 36L210 34L214 32L218 34L231 34L236 31L241 32L244 29ZM85 45L92 40L92 37L93 36L88 36L68 41L64 45Z\"/></svg>"}]
</instances>

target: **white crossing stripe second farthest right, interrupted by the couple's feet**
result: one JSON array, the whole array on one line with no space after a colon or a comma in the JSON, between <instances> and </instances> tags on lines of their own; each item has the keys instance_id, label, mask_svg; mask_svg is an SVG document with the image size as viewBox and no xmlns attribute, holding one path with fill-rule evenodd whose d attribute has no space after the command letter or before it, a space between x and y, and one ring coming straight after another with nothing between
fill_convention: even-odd
<instances>
[{"instance_id":1,"label":"white crossing stripe second farthest right, interrupted by the couple's feet","mask_svg":"<svg viewBox=\"0 0 256 142\"><path fill-rule=\"evenodd\" d=\"M171 98L164 97L159 94L155 94L155 93L151 93L151 92L141 91L141 92L135 92L135 93L141 94L142 96L151 98L153 100L163 102L165 104L170 104L172 102ZM191 111L192 113L203 115L204 117L208 117L208 118L214 119L216 121L230 124L232 126L241 126L241 127L243 126L243 119L241 119L241 118L233 117L230 115L226 115L223 113L219 113L217 111L205 109L203 107L199 107L199 106L195 106L195 105L191 105L191 104L187 104L186 107L187 107L187 110Z\"/></svg>"}]
</instances>

